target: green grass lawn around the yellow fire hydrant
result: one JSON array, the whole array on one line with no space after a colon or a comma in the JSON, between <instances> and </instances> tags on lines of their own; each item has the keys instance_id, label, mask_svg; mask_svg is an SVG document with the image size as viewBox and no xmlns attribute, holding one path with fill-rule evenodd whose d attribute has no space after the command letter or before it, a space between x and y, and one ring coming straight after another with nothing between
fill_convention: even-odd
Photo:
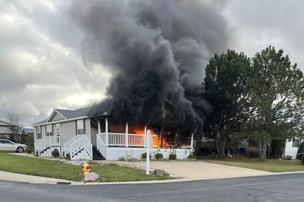
<instances>
[{"instance_id":1,"label":"green grass lawn around the yellow fire hydrant","mask_svg":"<svg viewBox=\"0 0 304 202\"><path fill-rule=\"evenodd\" d=\"M2 152L0 152L0 159L0 170L7 172L71 181L81 181L83 179L80 165L69 165L61 161L23 157ZM171 177L146 175L144 170L126 168L118 165L101 165L95 162L89 162L89 164L91 165L91 172L99 174L101 182L172 179Z\"/></svg>"}]
</instances>

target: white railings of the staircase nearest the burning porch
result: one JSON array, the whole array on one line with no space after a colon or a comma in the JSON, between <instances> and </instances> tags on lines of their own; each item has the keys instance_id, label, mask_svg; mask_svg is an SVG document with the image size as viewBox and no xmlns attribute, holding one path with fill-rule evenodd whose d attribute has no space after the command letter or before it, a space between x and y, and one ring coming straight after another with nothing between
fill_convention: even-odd
<instances>
[{"instance_id":1,"label":"white railings of the staircase nearest the burning porch","mask_svg":"<svg viewBox=\"0 0 304 202\"><path fill-rule=\"evenodd\" d=\"M70 157L71 159L75 154L83 150L83 152L87 152L90 160L93 160L93 149L92 149L92 143L87 138L87 135L78 135L79 138L76 139L72 144L70 144L69 150L70 150Z\"/></svg>"}]
</instances>

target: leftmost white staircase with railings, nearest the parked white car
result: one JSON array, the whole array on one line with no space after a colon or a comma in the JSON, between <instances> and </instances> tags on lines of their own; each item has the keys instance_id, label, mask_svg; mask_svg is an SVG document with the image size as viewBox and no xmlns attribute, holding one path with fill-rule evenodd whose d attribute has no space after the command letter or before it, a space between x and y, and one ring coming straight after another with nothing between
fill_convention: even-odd
<instances>
[{"instance_id":1,"label":"leftmost white staircase with railings, nearest the parked white car","mask_svg":"<svg viewBox=\"0 0 304 202\"><path fill-rule=\"evenodd\" d=\"M35 155L38 157L47 157L51 156L51 147L60 146L57 142L57 137L47 136L34 143Z\"/></svg>"}]
</instances>

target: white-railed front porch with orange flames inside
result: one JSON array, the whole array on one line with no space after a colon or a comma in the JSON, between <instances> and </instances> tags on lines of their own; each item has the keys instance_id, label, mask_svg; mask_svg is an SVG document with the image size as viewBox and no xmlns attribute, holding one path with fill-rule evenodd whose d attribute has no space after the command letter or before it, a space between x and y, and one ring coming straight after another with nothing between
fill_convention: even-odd
<instances>
[{"instance_id":1,"label":"white-railed front porch with orange flames inside","mask_svg":"<svg viewBox=\"0 0 304 202\"><path fill-rule=\"evenodd\" d=\"M164 158L170 154L176 154L177 158L185 159L193 152L193 133L188 138L189 144L177 146L162 135L154 134L147 130L137 133L129 133L128 123L125 125L124 133L115 133L109 131L108 118L105 118L104 131L101 132L101 124L98 121L98 133L96 134L96 148L106 160L118 160L119 158L141 159L141 154L146 152L147 138L150 138L150 154L154 157L155 153L162 153Z\"/></svg>"}]
</instances>

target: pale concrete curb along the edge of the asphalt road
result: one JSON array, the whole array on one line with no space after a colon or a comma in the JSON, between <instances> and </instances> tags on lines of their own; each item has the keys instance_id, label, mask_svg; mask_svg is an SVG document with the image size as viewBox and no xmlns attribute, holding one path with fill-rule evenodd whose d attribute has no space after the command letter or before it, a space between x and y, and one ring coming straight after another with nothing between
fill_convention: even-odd
<instances>
[{"instance_id":1,"label":"pale concrete curb along the edge of the asphalt road","mask_svg":"<svg viewBox=\"0 0 304 202\"><path fill-rule=\"evenodd\" d=\"M101 183L85 183L85 182L71 182L69 185L117 185L117 184L154 184L154 183L177 183L177 182L193 182L202 180L217 180L217 179L232 179L232 178L250 178L250 177L265 177L273 175L284 175L284 174L301 174L304 171L295 172L283 172L283 173L271 173L264 175L252 175L252 176L237 176L237 177L226 177L226 178L181 178L181 179L168 179L168 180L149 180L149 181L130 181L130 182L101 182ZM60 182L47 182L47 184L59 184Z\"/></svg>"}]
</instances>

